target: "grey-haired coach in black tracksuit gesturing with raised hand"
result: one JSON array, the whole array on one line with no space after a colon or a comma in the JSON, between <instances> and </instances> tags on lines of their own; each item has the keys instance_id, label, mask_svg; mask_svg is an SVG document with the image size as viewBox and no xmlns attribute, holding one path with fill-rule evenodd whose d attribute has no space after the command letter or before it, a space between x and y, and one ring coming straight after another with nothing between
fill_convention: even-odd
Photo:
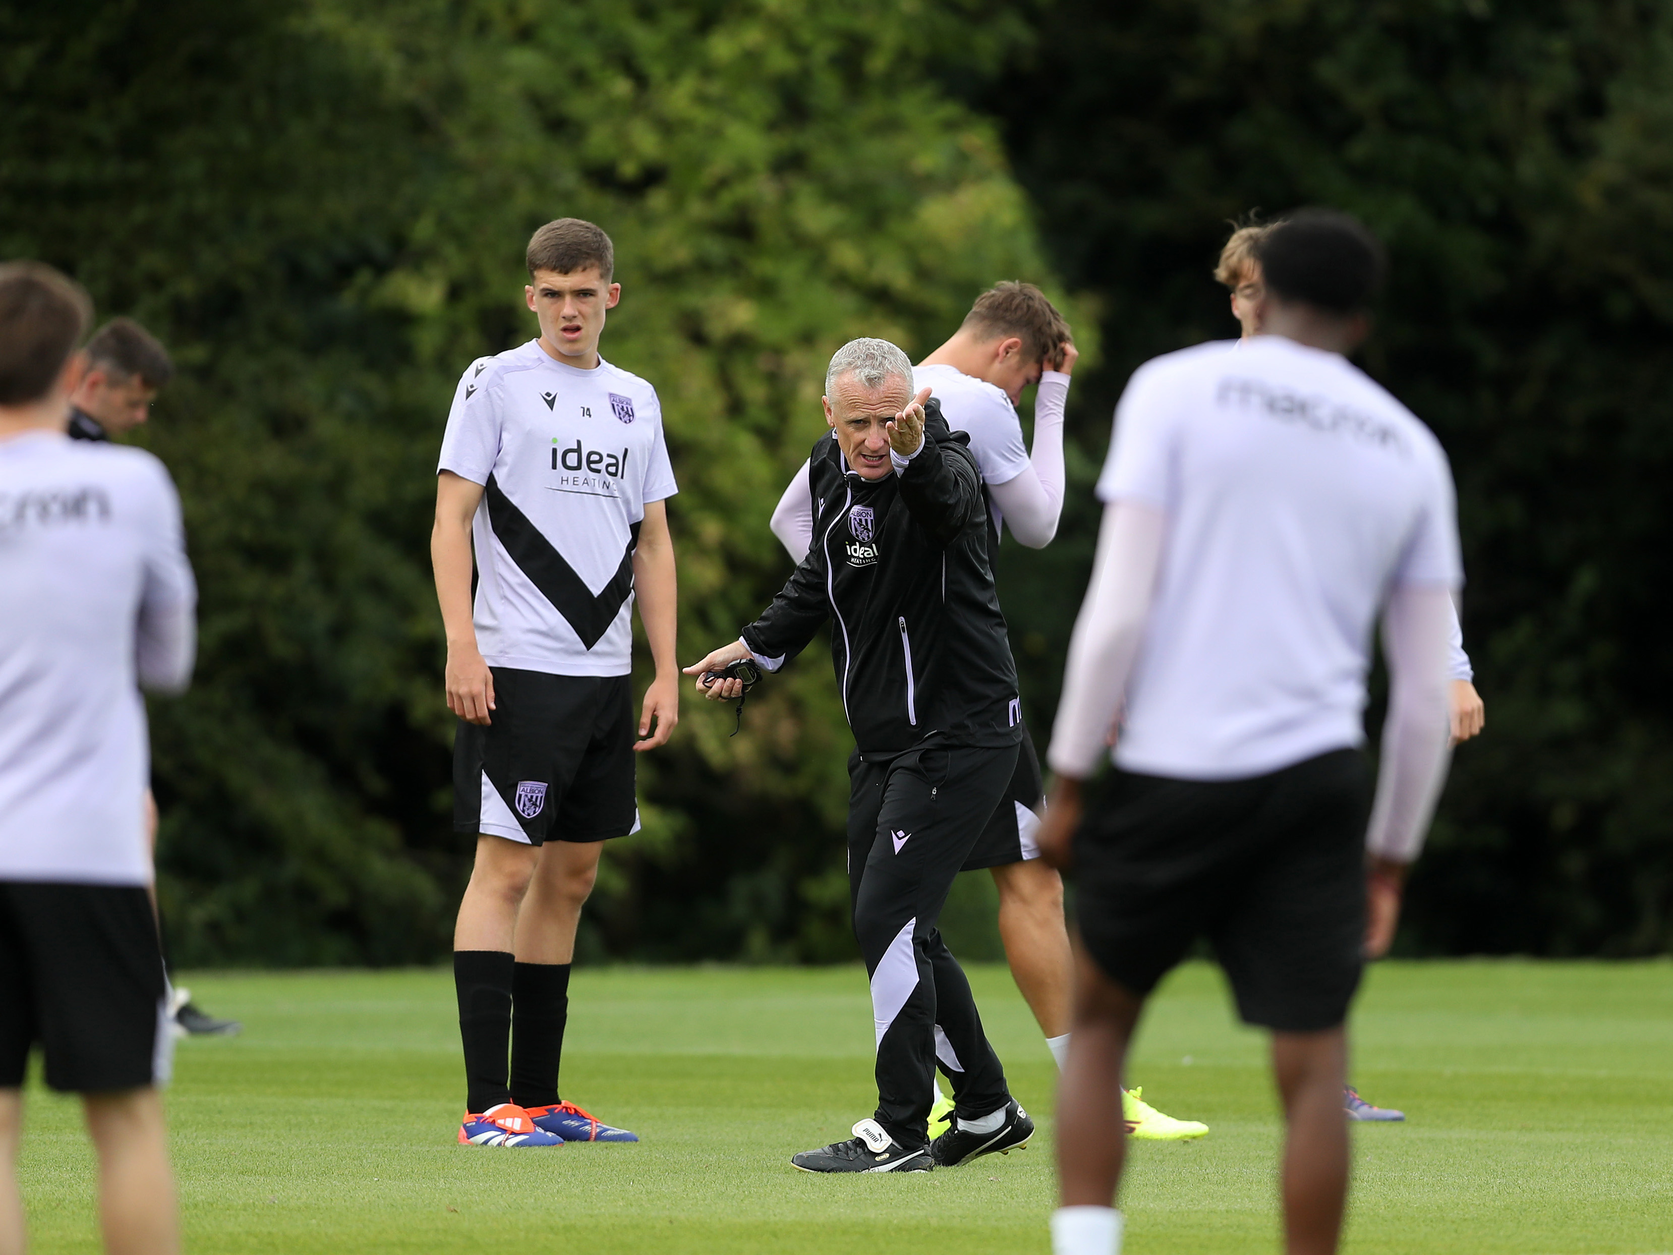
<instances>
[{"instance_id":1,"label":"grey-haired coach in black tracksuit gesturing with raised hand","mask_svg":"<svg viewBox=\"0 0 1673 1255\"><path fill-rule=\"evenodd\" d=\"M776 671L831 621L831 661L857 745L848 882L872 977L878 1106L875 1119L855 1124L853 1141L793 1160L811 1171L927 1168L937 1058L957 1121L937 1140L935 1163L1010 1150L1032 1133L935 929L1004 797L1022 726L982 477L940 407L920 405L922 393L910 402L910 361L887 341L836 353L826 378L833 430L810 458L813 547L738 644L689 668L719 671L753 656ZM736 691L738 681L723 681L708 694Z\"/></svg>"}]
</instances>

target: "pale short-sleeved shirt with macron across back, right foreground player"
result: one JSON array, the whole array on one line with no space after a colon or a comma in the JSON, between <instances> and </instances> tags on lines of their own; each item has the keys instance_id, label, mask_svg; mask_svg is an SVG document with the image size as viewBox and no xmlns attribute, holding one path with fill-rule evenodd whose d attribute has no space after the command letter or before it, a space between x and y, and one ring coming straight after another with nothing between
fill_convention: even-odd
<instances>
[{"instance_id":1,"label":"pale short-sleeved shirt with macron across back, right foreground player","mask_svg":"<svg viewBox=\"0 0 1673 1255\"><path fill-rule=\"evenodd\" d=\"M1389 589L1462 577L1439 442L1343 356L1282 336L1141 366L1097 495L1166 519L1114 751L1129 771L1225 780L1360 745Z\"/></svg>"}]
</instances>

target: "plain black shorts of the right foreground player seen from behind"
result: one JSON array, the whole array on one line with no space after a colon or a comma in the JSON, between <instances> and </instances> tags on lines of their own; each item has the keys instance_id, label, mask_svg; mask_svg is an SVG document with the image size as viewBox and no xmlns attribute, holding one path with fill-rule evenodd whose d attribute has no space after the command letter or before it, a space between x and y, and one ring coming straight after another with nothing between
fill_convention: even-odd
<instances>
[{"instance_id":1,"label":"plain black shorts of the right foreground player seen from behind","mask_svg":"<svg viewBox=\"0 0 1673 1255\"><path fill-rule=\"evenodd\" d=\"M1245 1022L1335 1027L1363 966L1369 813L1358 750L1248 780L1113 771L1074 842L1086 952L1143 996L1206 935Z\"/></svg>"}]
</instances>

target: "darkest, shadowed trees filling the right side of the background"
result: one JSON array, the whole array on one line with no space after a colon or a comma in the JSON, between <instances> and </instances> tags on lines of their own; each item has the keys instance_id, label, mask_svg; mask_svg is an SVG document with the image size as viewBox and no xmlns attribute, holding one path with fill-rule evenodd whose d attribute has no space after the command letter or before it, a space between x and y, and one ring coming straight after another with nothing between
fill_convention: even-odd
<instances>
[{"instance_id":1,"label":"darkest, shadowed trees filling the right side of the background","mask_svg":"<svg viewBox=\"0 0 1673 1255\"><path fill-rule=\"evenodd\" d=\"M1092 452L1138 361L1236 333L1210 279L1226 219L1333 204L1382 234L1365 363L1452 457L1489 720L1404 944L1673 945L1673 10L1066 2L975 100L1066 279L1104 298ZM1076 586L1084 556L1046 557ZM1005 604L1056 673L1062 607Z\"/></svg>"}]
</instances>

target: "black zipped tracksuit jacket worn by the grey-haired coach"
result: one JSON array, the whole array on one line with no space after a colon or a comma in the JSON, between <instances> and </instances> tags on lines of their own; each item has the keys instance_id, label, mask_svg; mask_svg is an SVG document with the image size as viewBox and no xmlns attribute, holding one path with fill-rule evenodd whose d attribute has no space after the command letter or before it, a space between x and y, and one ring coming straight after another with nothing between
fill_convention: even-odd
<instances>
[{"instance_id":1,"label":"black zipped tracksuit jacket worn by the grey-haired coach","mask_svg":"<svg viewBox=\"0 0 1673 1255\"><path fill-rule=\"evenodd\" d=\"M923 448L900 475L865 480L835 433L820 437L808 457L813 547L743 629L744 644L773 661L801 653L833 621L831 663L862 758L929 736L969 746L1022 740L987 499L967 443L934 398Z\"/></svg>"}]
</instances>

